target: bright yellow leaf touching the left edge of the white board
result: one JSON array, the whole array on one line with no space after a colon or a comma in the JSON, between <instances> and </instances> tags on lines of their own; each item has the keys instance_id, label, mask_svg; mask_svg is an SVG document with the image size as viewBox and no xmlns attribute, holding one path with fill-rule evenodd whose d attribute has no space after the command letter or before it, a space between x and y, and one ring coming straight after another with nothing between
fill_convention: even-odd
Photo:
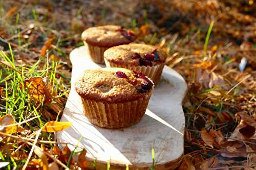
<instances>
[{"instance_id":1,"label":"bright yellow leaf touching the left edge of the white board","mask_svg":"<svg viewBox=\"0 0 256 170\"><path fill-rule=\"evenodd\" d=\"M42 127L42 131L45 132L57 132L62 131L69 128L73 123L70 122L47 122L44 127Z\"/></svg>"}]
</instances>

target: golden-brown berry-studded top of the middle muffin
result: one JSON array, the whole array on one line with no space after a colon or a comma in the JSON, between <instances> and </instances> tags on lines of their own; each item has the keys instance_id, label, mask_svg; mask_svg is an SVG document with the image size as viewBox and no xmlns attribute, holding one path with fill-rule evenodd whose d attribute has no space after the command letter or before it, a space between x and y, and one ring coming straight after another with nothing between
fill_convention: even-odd
<instances>
[{"instance_id":1,"label":"golden-brown berry-studded top of the middle muffin","mask_svg":"<svg viewBox=\"0 0 256 170\"><path fill-rule=\"evenodd\" d=\"M156 46L138 43L114 46L104 52L107 61L124 65L152 66L164 63L166 57Z\"/></svg>"}]
</instances>

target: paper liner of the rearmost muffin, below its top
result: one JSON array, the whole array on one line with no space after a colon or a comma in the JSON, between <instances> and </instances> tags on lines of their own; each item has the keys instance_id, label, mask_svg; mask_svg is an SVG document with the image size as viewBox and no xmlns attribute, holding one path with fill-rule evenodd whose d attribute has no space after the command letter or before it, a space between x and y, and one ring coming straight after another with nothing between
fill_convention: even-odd
<instances>
[{"instance_id":1,"label":"paper liner of the rearmost muffin, below its top","mask_svg":"<svg viewBox=\"0 0 256 170\"><path fill-rule=\"evenodd\" d=\"M98 64L105 64L103 54L109 47L101 47L90 45L86 41L83 41L84 45L88 46L88 52L90 54L91 59Z\"/></svg>"}]
</instances>

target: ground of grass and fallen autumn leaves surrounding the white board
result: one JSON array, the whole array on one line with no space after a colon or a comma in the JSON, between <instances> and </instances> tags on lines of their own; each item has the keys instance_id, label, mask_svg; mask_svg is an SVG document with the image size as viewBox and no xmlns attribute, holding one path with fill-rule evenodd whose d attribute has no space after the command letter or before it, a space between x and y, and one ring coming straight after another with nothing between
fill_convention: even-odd
<instances>
[{"instance_id":1,"label":"ground of grass and fallen autumn leaves surrounding the white board","mask_svg":"<svg viewBox=\"0 0 256 170\"><path fill-rule=\"evenodd\" d=\"M177 169L256 166L253 0L2 0L0 16L0 167L86 167L86 151L56 145L56 128L69 124L51 121L59 120L69 94L69 53L83 45L84 29L106 24L131 28L136 42L163 48L166 65L188 84Z\"/></svg>"}]
</instances>

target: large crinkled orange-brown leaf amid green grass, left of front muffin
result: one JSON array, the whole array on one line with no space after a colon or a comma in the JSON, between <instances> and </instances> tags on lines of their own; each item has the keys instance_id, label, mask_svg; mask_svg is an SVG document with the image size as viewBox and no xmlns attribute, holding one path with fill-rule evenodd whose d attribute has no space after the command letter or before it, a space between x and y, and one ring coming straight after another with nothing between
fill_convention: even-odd
<instances>
[{"instance_id":1,"label":"large crinkled orange-brown leaf amid green grass, left of front muffin","mask_svg":"<svg viewBox=\"0 0 256 170\"><path fill-rule=\"evenodd\" d=\"M43 81L42 77L31 77L24 82L28 92L32 98L38 102L42 102L45 96L45 102L49 103L52 99L47 84Z\"/></svg>"}]
</instances>

